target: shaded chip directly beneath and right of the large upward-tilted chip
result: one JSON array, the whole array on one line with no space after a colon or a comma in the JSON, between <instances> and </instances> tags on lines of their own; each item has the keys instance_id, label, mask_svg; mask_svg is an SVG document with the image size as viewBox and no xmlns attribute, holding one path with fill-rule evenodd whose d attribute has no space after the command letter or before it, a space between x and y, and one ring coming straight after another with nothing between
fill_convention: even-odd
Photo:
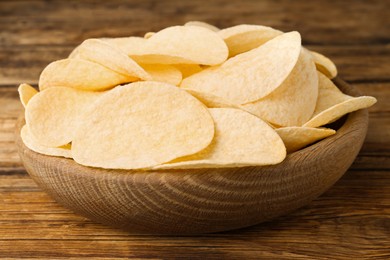
<instances>
[{"instance_id":1,"label":"shaded chip directly beneath and right of the large upward-tilted chip","mask_svg":"<svg viewBox=\"0 0 390 260\"><path fill-rule=\"evenodd\" d=\"M310 53L302 49L297 64L280 87L242 107L272 124L301 126L313 115L317 97L316 67Z\"/></svg>"}]
</instances>

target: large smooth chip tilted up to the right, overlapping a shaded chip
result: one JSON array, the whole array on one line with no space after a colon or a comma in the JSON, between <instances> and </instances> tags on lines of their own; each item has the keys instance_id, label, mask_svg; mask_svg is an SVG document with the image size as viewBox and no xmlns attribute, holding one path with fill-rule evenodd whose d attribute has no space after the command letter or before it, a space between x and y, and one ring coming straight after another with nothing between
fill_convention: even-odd
<instances>
[{"instance_id":1,"label":"large smooth chip tilted up to the right, overlapping a shaded chip","mask_svg":"<svg viewBox=\"0 0 390 260\"><path fill-rule=\"evenodd\" d=\"M285 33L220 66L184 79L181 87L211 93L234 104L257 101L277 89L288 77L300 50L299 33Z\"/></svg>"}]
</instances>

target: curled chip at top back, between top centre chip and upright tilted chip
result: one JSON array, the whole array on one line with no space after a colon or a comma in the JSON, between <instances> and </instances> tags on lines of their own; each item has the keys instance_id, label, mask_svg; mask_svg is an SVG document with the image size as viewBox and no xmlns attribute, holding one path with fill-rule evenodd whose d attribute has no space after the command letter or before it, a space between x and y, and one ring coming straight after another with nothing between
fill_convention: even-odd
<instances>
[{"instance_id":1,"label":"curled chip at top back, between top centre chip and upright tilted chip","mask_svg":"<svg viewBox=\"0 0 390 260\"><path fill-rule=\"evenodd\" d=\"M283 32L262 25L241 24L220 30L218 34L225 40L232 57L255 49Z\"/></svg>"}]
</instances>

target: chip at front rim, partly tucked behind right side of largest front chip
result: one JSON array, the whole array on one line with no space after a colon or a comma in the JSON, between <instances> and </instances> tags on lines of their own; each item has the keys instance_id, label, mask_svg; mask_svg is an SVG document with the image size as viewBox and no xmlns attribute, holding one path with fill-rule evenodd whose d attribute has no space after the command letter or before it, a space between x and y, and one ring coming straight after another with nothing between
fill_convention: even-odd
<instances>
[{"instance_id":1,"label":"chip at front rim, partly tucked behind right side of largest front chip","mask_svg":"<svg viewBox=\"0 0 390 260\"><path fill-rule=\"evenodd\" d=\"M286 148L267 123L243 110L210 108L215 122L213 142L197 154L157 169L219 168L271 165L283 161Z\"/></svg>"}]
</instances>

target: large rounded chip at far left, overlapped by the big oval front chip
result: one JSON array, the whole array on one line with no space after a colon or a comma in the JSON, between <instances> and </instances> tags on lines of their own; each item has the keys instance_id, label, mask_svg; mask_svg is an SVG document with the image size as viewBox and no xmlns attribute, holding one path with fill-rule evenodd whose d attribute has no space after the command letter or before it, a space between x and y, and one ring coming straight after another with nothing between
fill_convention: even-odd
<instances>
[{"instance_id":1,"label":"large rounded chip at far left, overlapped by the big oval front chip","mask_svg":"<svg viewBox=\"0 0 390 260\"><path fill-rule=\"evenodd\" d=\"M101 92L52 87L36 94L26 107L26 124L37 143L47 147L73 140L82 113Z\"/></svg>"}]
</instances>

